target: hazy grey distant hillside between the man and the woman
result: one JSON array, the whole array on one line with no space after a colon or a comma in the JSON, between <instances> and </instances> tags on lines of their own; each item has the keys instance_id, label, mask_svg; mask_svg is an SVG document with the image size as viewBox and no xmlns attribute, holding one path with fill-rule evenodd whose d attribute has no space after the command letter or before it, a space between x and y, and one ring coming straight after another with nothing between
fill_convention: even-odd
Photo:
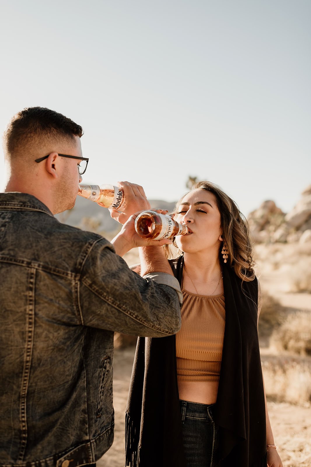
<instances>
[{"instance_id":1,"label":"hazy grey distant hillside between the man and the woman","mask_svg":"<svg viewBox=\"0 0 311 467\"><path fill-rule=\"evenodd\" d=\"M162 200L151 200L152 209L168 209L171 212L175 203L168 203ZM110 212L97 203L78 196L76 205L69 211L62 212L55 216L60 222L82 228L83 230L96 230L97 232L114 232L120 228L115 220L111 219Z\"/></svg>"}]
</instances>

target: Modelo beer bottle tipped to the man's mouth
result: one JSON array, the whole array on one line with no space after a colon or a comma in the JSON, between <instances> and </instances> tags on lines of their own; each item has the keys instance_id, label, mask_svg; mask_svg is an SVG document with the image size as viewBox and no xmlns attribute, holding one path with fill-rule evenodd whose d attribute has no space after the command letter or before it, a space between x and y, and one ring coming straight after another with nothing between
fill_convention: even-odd
<instances>
[{"instance_id":1,"label":"Modelo beer bottle tipped to the man's mouth","mask_svg":"<svg viewBox=\"0 0 311 467\"><path fill-rule=\"evenodd\" d=\"M116 211L124 211L125 208L124 191L118 186L79 185L78 195Z\"/></svg>"}]
</instances>

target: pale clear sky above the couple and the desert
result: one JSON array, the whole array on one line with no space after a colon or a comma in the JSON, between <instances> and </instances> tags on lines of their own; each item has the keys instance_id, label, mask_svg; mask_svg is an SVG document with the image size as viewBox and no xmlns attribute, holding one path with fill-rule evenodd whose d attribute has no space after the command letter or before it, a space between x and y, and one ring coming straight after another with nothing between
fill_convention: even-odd
<instances>
[{"instance_id":1,"label":"pale clear sky above the couple and the desert","mask_svg":"<svg viewBox=\"0 0 311 467\"><path fill-rule=\"evenodd\" d=\"M69 116L84 129L84 182L129 180L172 201L193 175L245 214L265 199L288 212L311 183L310 0L0 10L1 133L24 107Z\"/></svg>"}]
</instances>

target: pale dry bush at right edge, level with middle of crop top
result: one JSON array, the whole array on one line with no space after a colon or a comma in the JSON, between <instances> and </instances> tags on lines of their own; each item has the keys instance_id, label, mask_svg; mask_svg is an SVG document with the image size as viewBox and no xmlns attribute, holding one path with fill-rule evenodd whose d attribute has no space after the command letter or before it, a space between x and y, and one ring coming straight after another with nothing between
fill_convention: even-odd
<instances>
[{"instance_id":1,"label":"pale dry bush at right edge, level with middle of crop top","mask_svg":"<svg viewBox=\"0 0 311 467\"><path fill-rule=\"evenodd\" d=\"M311 312L297 311L274 329L270 344L277 350L311 355Z\"/></svg>"}]
</instances>

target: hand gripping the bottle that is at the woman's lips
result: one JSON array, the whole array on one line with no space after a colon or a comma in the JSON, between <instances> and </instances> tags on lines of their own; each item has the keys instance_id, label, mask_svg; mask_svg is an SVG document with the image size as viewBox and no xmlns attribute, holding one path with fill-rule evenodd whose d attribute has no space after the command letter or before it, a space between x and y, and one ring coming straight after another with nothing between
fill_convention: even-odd
<instances>
[{"instance_id":1,"label":"hand gripping the bottle that is at the woman's lips","mask_svg":"<svg viewBox=\"0 0 311 467\"><path fill-rule=\"evenodd\" d=\"M144 210L145 211L145 210ZM165 212L157 210L157 212ZM166 243L172 243L171 240L162 239L162 240L149 240L141 238L135 230L135 219L137 218L139 212L135 212L131 217L125 222L121 231L111 240L117 255L123 256L131 248L136 247L162 247Z\"/></svg>"}]
</instances>

